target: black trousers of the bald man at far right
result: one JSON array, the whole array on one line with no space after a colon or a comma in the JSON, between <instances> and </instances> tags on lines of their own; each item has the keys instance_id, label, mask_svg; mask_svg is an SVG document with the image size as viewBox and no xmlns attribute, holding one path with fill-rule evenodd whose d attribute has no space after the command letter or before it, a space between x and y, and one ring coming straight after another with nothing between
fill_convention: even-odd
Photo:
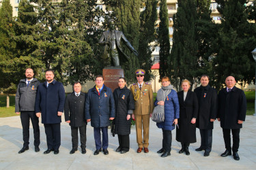
<instances>
[{"instance_id":1,"label":"black trousers of the bald man at far right","mask_svg":"<svg viewBox=\"0 0 256 170\"><path fill-rule=\"evenodd\" d=\"M239 142L240 142L240 138L239 138L240 129L223 129L223 137L224 137L224 141L225 141L225 148L226 148L226 150L231 151L230 131L232 132L232 135L233 135L232 151L233 152L238 152Z\"/></svg>"}]
</instances>

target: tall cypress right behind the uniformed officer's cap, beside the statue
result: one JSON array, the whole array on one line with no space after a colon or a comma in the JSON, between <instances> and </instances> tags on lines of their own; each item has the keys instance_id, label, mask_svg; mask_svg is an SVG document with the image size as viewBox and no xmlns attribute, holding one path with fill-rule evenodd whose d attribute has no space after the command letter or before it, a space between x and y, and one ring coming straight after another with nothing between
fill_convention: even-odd
<instances>
[{"instance_id":1,"label":"tall cypress right behind the uniformed officer's cap, beside the statue","mask_svg":"<svg viewBox=\"0 0 256 170\"><path fill-rule=\"evenodd\" d=\"M140 21L140 33L139 33L139 65L141 69L144 69L147 74L145 74L144 81L150 81L152 78L151 67L153 65L152 61L152 49L154 49L152 42L156 39L156 20L157 11L156 5L158 1L147 0L145 1L145 10L141 12Z\"/></svg>"}]
</instances>

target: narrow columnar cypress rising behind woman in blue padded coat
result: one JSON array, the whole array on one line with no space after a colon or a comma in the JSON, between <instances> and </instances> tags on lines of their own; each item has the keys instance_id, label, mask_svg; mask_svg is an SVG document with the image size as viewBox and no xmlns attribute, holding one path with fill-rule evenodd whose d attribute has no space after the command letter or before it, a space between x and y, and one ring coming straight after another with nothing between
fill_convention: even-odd
<instances>
[{"instance_id":1,"label":"narrow columnar cypress rising behind woman in blue padded coat","mask_svg":"<svg viewBox=\"0 0 256 170\"><path fill-rule=\"evenodd\" d=\"M160 11L159 11L159 28L158 28L158 44L159 50L159 75L162 78L170 73L170 65L168 65L168 58L170 57L170 36L169 36L169 17L167 11L167 1L160 0Z\"/></svg>"}]
</instances>

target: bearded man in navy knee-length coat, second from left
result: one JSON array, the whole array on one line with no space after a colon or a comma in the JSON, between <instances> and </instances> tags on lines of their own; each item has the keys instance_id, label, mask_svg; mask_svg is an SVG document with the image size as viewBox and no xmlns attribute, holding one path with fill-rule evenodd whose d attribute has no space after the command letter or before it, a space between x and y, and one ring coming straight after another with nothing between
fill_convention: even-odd
<instances>
[{"instance_id":1,"label":"bearded man in navy knee-length coat, second from left","mask_svg":"<svg viewBox=\"0 0 256 170\"><path fill-rule=\"evenodd\" d=\"M38 86L35 98L35 113L42 116L42 124L46 133L48 149L44 154L54 150L59 154L61 145L61 115L65 104L65 90L61 82L54 80L54 71L49 69L45 73L46 81Z\"/></svg>"}]
</instances>

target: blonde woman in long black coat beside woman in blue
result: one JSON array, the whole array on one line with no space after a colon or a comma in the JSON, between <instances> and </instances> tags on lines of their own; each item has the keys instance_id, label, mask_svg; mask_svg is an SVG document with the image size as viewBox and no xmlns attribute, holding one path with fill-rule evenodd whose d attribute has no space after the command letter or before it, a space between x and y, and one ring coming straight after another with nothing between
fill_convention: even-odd
<instances>
[{"instance_id":1,"label":"blonde woman in long black coat beside woman in blue","mask_svg":"<svg viewBox=\"0 0 256 170\"><path fill-rule=\"evenodd\" d=\"M177 92L177 97L180 103L180 118L177 120L179 129L176 129L176 140L182 143L183 152L189 155L189 143L197 142L196 137L196 118L198 114L198 101L195 92L189 90L190 82L188 80L182 81L182 91Z\"/></svg>"}]
</instances>

